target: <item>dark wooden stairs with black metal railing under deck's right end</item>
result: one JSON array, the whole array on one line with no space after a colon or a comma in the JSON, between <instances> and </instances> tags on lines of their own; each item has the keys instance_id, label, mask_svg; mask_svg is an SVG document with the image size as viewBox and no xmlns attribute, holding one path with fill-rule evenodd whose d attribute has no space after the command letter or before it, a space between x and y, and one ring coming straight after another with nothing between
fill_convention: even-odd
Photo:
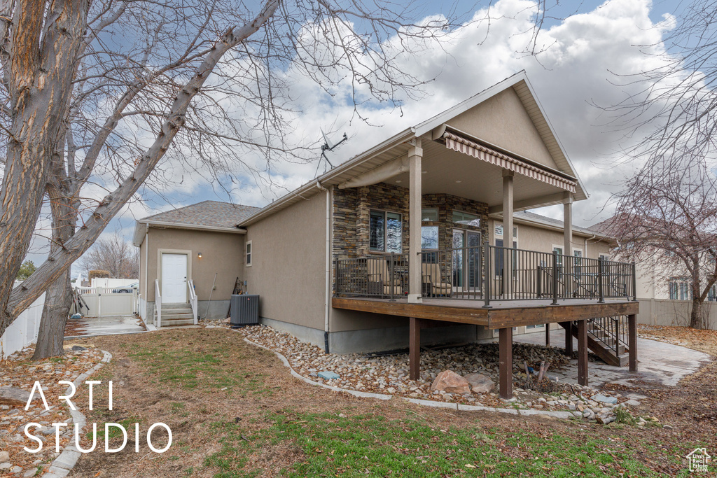
<instances>
[{"instance_id":1,"label":"dark wooden stairs with black metal railing under deck's right end","mask_svg":"<svg viewBox=\"0 0 717 478\"><path fill-rule=\"evenodd\" d=\"M572 324L572 335L578 336L577 322L561 322L560 325L567 330ZM615 367L625 367L630 358L627 353L627 318L603 317L601 319L587 320L587 346L588 349L601 358L604 363Z\"/></svg>"}]
</instances>

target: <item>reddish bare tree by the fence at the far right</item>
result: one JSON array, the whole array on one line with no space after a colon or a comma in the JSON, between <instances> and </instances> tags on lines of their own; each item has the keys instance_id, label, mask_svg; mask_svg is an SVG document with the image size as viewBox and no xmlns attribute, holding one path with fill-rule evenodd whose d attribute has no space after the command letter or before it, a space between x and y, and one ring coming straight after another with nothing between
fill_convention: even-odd
<instances>
[{"instance_id":1,"label":"reddish bare tree by the fence at the far right","mask_svg":"<svg viewBox=\"0 0 717 478\"><path fill-rule=\"evenodd\" d=\"M717 281L717 176L701 158L647 163L617 197L599 228L618 239L620 255L650 260L656 279L688 277L690 327L703 328L702 305Z\"/></svg>"}]
</instances>

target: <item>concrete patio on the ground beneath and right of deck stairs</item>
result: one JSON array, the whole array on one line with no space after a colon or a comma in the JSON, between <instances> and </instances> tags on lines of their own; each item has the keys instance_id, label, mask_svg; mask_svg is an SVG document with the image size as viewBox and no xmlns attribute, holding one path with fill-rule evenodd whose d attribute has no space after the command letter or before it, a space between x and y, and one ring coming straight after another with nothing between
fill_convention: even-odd
<instances>
[{"instance_id":1,"label":"concrete patio on the ground beneath and right of deck stairs","mask_svg":"<svg viewBox=\"0 0 717 478\"><path fill-rule=\"evenodd\" d=\"M545 332L516 335L513 341L545 345ZM563 348L565 331L551 330L550 343L553 347ZM578 350L575 338L573 338L573 350ZM603 386L605 383L622 383L631 386L634 385L634 381L675 386L685 376L698 371L709 358L706 353L691 348L637 338L636 373L630 372L627 367L614 367L598 359L588 365L588 381L590 386L594 387ZM551 368L548 373L551 376L558 376L560 381L577 383L578 361L570 360L570 363L564 367Z\"/></svg>"}]
</instances>

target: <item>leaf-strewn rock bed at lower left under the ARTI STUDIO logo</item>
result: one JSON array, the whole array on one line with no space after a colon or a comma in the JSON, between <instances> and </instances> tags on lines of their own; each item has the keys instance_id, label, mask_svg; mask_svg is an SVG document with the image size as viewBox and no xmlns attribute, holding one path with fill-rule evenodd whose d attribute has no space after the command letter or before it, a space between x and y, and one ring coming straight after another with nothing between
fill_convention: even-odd
<instances>
[{"instance_id":1,"label":"leaf-strewn rock bed at lower left under the ARTI STUDIO logo","mask_svg":"<svg viewBox=\"0 0 717 478\"><path fill-rule=\"evenodd\" d=\"M67 350L69 349L69 350ZM44 473L52 460L60 456L69 444L73 426L70 410L65 403L59 403L57 396L65 395L67 385L58 381L74 381L82 373L100 363L104 354L95 348L66 346L65 355L34 362L32 349L10 355L0 361L0 387L19 388L29 392L35 381L42 385L42 391L49 411L45 410L39 394L26 411L23 406L0 405L0 474L2 476L34 477ZM80 350L81 349L81 350ZM78 391L78 393L86 393ZM73 401L74 403L74 401ZM37 449L37 441L28 439L24 426L35 422L42 427L30 429L34 436L43 439L42 451L28 453L23 447ZM70 423L60 434L60 452L55 451L55 429L53 423Z\"/></svg>"}]
</instances>

